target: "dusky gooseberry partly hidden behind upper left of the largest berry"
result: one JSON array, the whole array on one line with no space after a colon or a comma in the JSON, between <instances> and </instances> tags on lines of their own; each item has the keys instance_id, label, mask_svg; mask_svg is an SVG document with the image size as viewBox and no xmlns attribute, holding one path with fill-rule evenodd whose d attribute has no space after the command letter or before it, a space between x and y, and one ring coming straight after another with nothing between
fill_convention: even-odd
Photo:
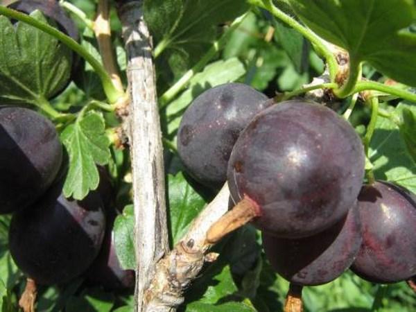
<instances>
[{"instance_id":1,"label":"dusky gooseberry partly hidden behind upper left of the largest berry","mask_svg":"<svg viewBox=\"0 0 416 312\"><path fill-rule=\"evenodd\" d=\"M221 187L236 139L272 103L267 99L241 83L219 85L195 98L177 132L177 150L188 173L207 187Z\"/></svg>"}]
</instances>

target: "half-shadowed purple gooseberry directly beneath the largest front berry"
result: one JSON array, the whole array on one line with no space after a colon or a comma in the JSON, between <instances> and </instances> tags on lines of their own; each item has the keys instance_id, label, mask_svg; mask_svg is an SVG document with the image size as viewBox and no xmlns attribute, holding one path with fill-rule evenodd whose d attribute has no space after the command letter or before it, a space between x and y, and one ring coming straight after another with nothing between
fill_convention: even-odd
<instances>
[{"instance_id":1,"label":"half-shadowed purple gooseberry directly beneath the largest front berry","mask_svg":"<svg viewBox=\"0 0 416 312\"><path fill-rule=\"evenodd\" d=\"M263 233L263 247L276 272L300 286L326 284L354 261L362 241L358 207L329 229L304 239L278 239Z\"/></svg>"}]
</instances>

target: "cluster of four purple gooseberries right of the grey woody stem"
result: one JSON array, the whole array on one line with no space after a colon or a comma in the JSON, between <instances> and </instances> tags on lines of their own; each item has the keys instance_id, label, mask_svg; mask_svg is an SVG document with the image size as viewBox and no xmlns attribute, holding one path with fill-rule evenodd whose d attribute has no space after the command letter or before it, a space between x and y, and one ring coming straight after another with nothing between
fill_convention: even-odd
<instances>
[{"instance_id":1,"label":"cluster of four purple gooseberries right of the grey woody stem","mask_svg":"<svg viewBox=\"0 0 416 312\"><path fill-rule=\"evenodd\" d=\"M191 103L177 137L192 177L214 188L227 180L234 205L254 211L268 260L292 284L325 284L348 268L380 283L416 275L416 197L363 185L361 139L328 107L273 103L229 83Z\"/></svg>"}]
</instances>

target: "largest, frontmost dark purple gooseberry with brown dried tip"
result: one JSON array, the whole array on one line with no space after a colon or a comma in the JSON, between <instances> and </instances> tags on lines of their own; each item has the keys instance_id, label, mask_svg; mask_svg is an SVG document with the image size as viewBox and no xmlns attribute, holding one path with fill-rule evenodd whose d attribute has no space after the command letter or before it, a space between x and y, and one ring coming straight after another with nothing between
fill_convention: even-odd
<instances>
[{"instance_id":1,"label":"largest, frontmost dark purple gooseberry with brown dried tip","mask_svg":"<svg viewBox=\"0 0 416 312\"><path fill-rule=\"evenodd\" d=\"M253 223L297 239L338 222L358 196L364 176L361 139L328 107L287 101L269 107L241 133L228 164L234 203L254 200Z\"/></svg>"}]
</instances>

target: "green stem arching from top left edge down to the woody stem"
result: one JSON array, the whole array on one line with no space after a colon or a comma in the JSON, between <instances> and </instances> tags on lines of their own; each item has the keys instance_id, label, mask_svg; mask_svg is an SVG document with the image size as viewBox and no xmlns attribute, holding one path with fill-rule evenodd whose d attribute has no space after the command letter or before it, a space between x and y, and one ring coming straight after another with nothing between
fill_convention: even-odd
<instances>
[{"instance_id":1,"label":"green stem arching from top left edge down to the woody stem","mask_svg":"<svg viewBox=\"0 0 416 312\"><path fill-rule=\"evenodd\" d=\"M28 16L21 12L17 12L16 10L12 10L10 8L6 8L5 6L0 6L0 14L5 15L9 18L11 17L12 19L23 21L24 23L38 28L41 31L44 31L45 33L48 33L49 35L55 37L60 42L68 46L69 49L75 51L80 56L82 56L87 62L89 62L89 64L91 64L94 71L101 78L101 83L103 84L105 95L107 96L108 101L110 101L110 103L115 103L119 98L124 96L124 92L119 91L113 85L112 80L108 75L107 71L105 71L103 65L100 62L98 62L98 60L96 60L96 58L94 58L94 56L91 55L86 49L84 49L83 46L78 44L78 42L73 40L71 37L65 35L64 33L61 33L60 31L58 31L58 29L53 28L52 26L49 26L48 24L45 24L42 21L38 21L37 19L34 19L31 16Z\"/></svg>"}]
</instances>

